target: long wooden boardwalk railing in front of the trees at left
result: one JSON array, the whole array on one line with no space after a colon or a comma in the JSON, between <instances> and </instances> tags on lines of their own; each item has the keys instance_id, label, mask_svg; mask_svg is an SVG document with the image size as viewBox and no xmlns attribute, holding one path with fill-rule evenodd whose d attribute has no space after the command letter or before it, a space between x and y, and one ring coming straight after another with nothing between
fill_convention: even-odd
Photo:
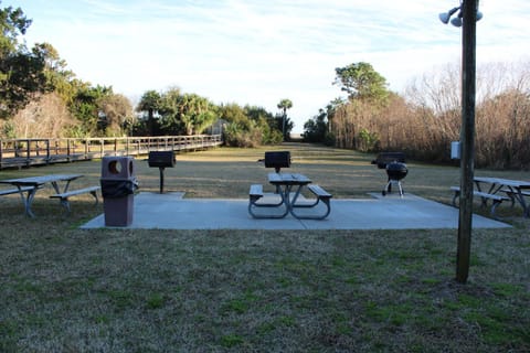
<instances>
[{"instance_id":1,"label":"long wooden boardwalk railing in front of the trees at left","mask_svg":"<svg viewBox=\"0 0 530 353\"><path fill-rule=\"evenodd\" d=\"M105 156L141 156L149 151L195 151L221 145L221 135L6 139L0 140L0 169L89 160Z\"/></svg>"}]
</instances>

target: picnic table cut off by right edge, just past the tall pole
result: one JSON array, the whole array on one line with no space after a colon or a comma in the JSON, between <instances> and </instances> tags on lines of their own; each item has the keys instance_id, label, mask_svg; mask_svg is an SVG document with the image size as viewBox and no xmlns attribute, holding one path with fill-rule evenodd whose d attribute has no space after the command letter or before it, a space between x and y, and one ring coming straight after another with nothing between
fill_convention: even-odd
<instances>
[{"instance_id":1,"label":"picnic table cut off by right edge, just past the tall pole","mask_svg":"<svg viewBox=\"0 0 530 353\"><path fill-rule=\"evenodd\" d=\"M530 217L530 205L527 205L524 201L524 196L530 196L530 193L526 191L530 190L530 182L491 176L475 176L474 182L478 192L486 192L492 195L498 192L506 193L510 197L512 205L516 201L519 202L523 216ZM486 199L483 199L483 202L485 201Z\"/></svg>"}]
</instances>

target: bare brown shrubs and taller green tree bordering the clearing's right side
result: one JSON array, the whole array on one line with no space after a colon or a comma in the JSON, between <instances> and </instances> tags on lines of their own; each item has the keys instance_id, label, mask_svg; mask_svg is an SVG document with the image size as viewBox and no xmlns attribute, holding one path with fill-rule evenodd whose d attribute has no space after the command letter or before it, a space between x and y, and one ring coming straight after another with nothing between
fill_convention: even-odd
<instances>
[{"instance_id":1,"label":"bare brown shrubs and taller green tree bordering the clearing's right side","mask_svg":"<svg viewBox=\"0 0 530 353\"><path fill-rule=\"evenodd\" d=\"M530 169L530 63L490 63L477 68L475 164ZM459 140L459 65L413 79L403 94L388 89L369 63L336 68L348 94L305 124L307 141L367 152L403 151L423 161L451 161Z\"/></svg>"}]
</instances>

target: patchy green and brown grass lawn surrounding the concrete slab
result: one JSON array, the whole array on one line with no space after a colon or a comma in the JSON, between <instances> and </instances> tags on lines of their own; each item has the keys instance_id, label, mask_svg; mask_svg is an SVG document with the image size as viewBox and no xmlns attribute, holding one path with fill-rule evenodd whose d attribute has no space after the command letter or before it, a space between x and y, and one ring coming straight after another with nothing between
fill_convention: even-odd
<instances>
[{"instance_id":1,"label":"patchy green and brown grass lawn surrounding the concrete slab","mask_svg":"<svg viewBox=\"0 0 530 353\"><path fill-rule=\"evenodd\" d=\"M179 154L166 191L246 199L266 183L256 161L271 149ZM373 156L274 149L337 199L386 181ZM451 202L458 168L407 165L405 192ZM158 169L137 160L135 171L140 191L158 191ZM47 173L94 185L100 162L0 179ZM18 195L0 197L0 352L530 352L530 221L518 206L497 210L512 228L474 229L469 281L458 285L456 229L88 231L77 227L103 206L76 196L66 215L51 193L38 192L35 218Z\"/></svg>"}]
</instances>

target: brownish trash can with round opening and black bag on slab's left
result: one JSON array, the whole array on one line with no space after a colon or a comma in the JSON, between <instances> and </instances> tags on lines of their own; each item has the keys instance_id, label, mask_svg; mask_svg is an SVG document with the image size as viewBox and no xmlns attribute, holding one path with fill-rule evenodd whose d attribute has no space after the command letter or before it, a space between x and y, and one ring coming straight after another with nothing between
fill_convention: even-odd
<instances>
[{"instance_id":1,"label":"brownish trash can with round opening and black bag on slab's left","mask_svg":"<svg viewBox=\"0 0 530 353\"><path fill-rule=\"evenodd\" d=\"M130 225L138 189L132 157L104 157L100 184L105 225Z\"/></svg>"}]
</instances>

